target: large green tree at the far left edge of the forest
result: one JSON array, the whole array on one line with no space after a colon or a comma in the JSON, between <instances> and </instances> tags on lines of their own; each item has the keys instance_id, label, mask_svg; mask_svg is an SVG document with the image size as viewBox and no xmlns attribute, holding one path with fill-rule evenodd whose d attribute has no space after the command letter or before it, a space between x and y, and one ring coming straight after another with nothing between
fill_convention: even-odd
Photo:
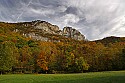
<instances>
[{"instance_id":1,"label":"large green tree at the far left edge of the forest","mask_svg":"<svg viewBox=\"0 0 125 83\"><path fill-rule=\"evenodd\" d=\"M5 73L12 70L17 62L18 50L14 43L5 41L0 43L0 72Z\"/></svg>"}]
</instances>

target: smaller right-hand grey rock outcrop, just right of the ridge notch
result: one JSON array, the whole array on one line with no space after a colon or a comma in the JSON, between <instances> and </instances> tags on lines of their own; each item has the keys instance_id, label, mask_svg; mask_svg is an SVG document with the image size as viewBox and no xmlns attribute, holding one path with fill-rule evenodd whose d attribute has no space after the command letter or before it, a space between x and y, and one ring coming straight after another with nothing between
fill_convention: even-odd
<instances>
[{"instance_id":1,"label":"smaller right-hand grey rock outcrop, just right of the ridge notch","mask_svg":"<svg viewBox=\"0 0 125 83\"><path fill-rule=\"evenodd\" d=\"M67 38L72 38L75 40L84 40L85 37L78 30L73 29L72 27L64 27L63 28L63 36Z\"/></svg>"}]
</instances>

